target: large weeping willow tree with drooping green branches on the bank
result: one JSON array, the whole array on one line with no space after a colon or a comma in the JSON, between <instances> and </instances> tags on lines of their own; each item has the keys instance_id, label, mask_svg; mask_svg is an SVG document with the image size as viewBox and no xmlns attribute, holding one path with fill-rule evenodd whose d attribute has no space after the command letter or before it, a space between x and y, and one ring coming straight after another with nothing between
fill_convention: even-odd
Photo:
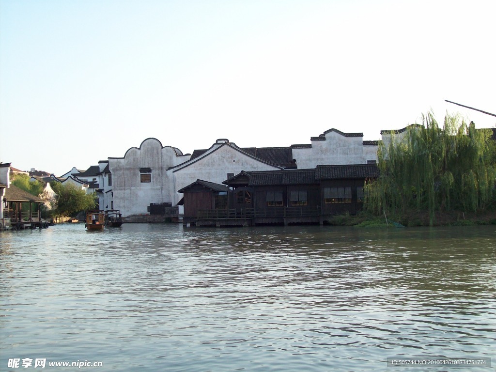
<instances>
[{"instance_id":1,"label":"large weeping willow tree with drooping green branches on the bank","mask_svg":"<svg viewBox=\"0 0 496 372\"><path fill-rule=\"evenodd\" d=\"M430 112L423 125L390 133L378 149L380 176L367 183L365 208L407 215L484 211L495 203L495 144L491 129L476 129L459 115L446 115L440 128Z\"/></svg>"}]
</instances>

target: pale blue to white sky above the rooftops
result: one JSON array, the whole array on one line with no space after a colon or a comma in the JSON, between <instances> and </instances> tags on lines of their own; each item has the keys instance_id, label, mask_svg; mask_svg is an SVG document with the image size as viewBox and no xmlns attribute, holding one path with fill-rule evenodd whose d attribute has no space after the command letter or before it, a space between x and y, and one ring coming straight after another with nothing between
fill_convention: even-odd
<instances>
[{"instance_id":1,"label":"pale blue to white sky above the rooftops","mask_svg":"<svg viewBox=\"0 0 496 372\"><path fill-rule=\"evenodd\" d=\"M147 137L184 153L496 118L494 0L0 0L0 161L57 176Z\"/></svg>"}]
</instances>

